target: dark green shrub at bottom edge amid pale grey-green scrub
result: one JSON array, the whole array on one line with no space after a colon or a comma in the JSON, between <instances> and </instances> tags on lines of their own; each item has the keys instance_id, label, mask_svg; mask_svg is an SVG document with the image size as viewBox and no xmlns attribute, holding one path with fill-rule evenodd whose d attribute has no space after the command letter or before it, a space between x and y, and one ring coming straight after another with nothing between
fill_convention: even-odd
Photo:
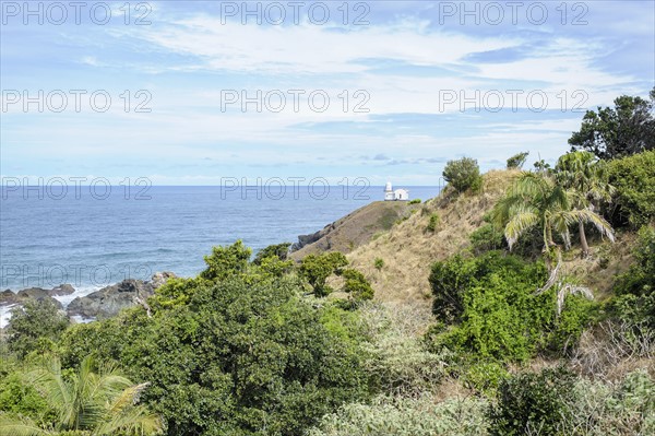
<instances>
[{"instance_id":1,"label":"dark green shrub at bottom edge amid pale grey-green scrub","mask_svg":"<svg viewBox=\"0 0 655 436\"><path fill-rule=\"evenodd\" d=\"M574 402L574 374L560 367L517 374L501 381L498 403L489 409L490 434L562 435Z\"/></svg>"}]
</instances>

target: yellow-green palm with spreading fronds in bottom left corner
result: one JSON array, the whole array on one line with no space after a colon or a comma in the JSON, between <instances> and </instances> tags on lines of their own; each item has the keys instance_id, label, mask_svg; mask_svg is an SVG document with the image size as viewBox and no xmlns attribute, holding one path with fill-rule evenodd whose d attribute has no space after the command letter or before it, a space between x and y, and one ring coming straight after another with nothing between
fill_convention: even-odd
<instances>
[{"instance_id":1,"label":"yellow-green palm with spreading fronds in bottom left corner","mask_svg":"<svg viewBox=\"0 0 655 436\"><path fill-rule=\"evenodd\" d=\"M27 380L56 412L55 423L47 428L29 417L0 414L0 434L5 436L57 435L73 431L80 435L154 435L162 431L160 420L138 405L139 396L147 384L134 385L117 368L100 365L95 369L90 356L79 370L67 377L61 363L50 358L27 374Z\"/></svg>"}]
</instances>

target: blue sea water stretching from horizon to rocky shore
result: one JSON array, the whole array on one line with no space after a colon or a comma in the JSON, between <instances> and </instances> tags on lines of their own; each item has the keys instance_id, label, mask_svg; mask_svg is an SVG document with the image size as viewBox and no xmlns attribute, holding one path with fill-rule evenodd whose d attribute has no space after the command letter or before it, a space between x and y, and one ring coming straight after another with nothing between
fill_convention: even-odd
<instances>
[{"instance_id":1,"label":"blue sea water stretching from horizon to rocky shore","mask_svg":"<svg viewBox=\"0 0 655 436\"><path fill-rule=\"evenodd\" d=\"M382 187L115 187L109 195L102 187L66 195L46 188L1 192L2 290L70 283L82 295L157 271L192 276L204 269L212 246L242 239L257 252L295 243L383 198ZM408 189L424 200L439 192Z\"/></svg>"}]
</instances>

